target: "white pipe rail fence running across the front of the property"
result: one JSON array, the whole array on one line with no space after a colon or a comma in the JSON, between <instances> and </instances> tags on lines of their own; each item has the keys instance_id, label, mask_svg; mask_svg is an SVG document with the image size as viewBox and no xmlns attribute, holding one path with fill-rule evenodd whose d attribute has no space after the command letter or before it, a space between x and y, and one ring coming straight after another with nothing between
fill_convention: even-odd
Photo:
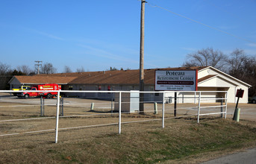
<instances>
[{"instance_id":1,"label":"white pipe rail fence running across the front of the property","mask_svg":"<svg viewBox=\"0 0 256 164\"><path fill-rule=\"evenodd\" d=\"M199 123L202 116L215 115L226 118L227 114L227 92L222 91L128 92L62 90L57 92L55 99L17 98L16 96L11 96L11 92L22 91L0 91L2 94L0 95L0 126L2 127L0 136L54 131L56 143L59 130L118 125L118 133L121 133L122 124L161 121L161 127L164 128L166 119L196 117ZM61 95L65 95L65 97ZM142 95L144 101L140 101L140 96ZM140 104L143 106L140 106ZM140 107L143 107L143 109L140 109ZM72 126L68 124L69 127L60 127L60 119L77 119L78 117L93 118L91 120L99 119L100 124L84 124L83 122L82 124L72 123ZM20 131L14 128L13 130L13 124L19 124L17 122L22 122L19 125L23 124L23 122L36 124L34 122L42 120L51 121L40 122L42 125L38 125L37 128L23 128ZM52 125L53 122L55 122L54 126ZM28 126L28 124L22 126Z\"/></svg>"}]
</instances>

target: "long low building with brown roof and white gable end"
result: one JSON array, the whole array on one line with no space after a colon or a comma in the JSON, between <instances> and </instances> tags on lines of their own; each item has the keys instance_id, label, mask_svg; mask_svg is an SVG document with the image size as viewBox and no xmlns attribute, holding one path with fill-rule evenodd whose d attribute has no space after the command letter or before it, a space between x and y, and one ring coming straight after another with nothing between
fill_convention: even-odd
<instances>
[{"instance_id":1,"label":"long low building with brown roof and white gable end","mask_svg":"<svg viewBox=\"0 0 256 164\"><path fill-rule=\"evenodd\" d=\"M248 102L248 90L251 85L231 75L221 72L211 66L200 67L178 67L166 69L145 69L144 84L145 91L154 91L155 71L156 70L197 70L197 90L198 91L227 91L228 102L235 103L237 98L235 94L237 89L243 89L243 98L240 103ZM42 83L58 83L62 90L139 90L140 88L140 70L116 70L102 72L81 72L81 73L59 73L51 75L34 75L34 76L14 76L10 81L10 89L18 88L21 85L35 85ZM216 98L223 97L222 93L209 93L205 96ZM66 93L70 96L110 98L109 93ZM168 95L172 97L173 95ZM180 93L178 96L192 96L191 93ZM154 101L159 99L159 94L148 94L145 101Z\"/></svg>"}]
</instances>

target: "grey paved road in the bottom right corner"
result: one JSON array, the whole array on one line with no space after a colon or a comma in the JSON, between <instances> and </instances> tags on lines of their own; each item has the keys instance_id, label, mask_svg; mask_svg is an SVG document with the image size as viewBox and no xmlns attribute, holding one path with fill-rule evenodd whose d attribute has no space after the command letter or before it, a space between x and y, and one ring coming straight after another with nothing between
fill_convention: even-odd
<instances>
[{"instance_id":1,"label":"grey paved road in the bottom right corner","mask_svg":"<svg viewBox=\"0 0 256 164\"><path fill-rule=\"evenodd\" d=\"M241 163L246 163L246 164L255 164L256 163L256 148L252 148L246 151L242 151L239 153L235 154L230 154L225 157L220 157L215 160L210 160L202 164L241 164Z\"/></svg>"}]
</instances>

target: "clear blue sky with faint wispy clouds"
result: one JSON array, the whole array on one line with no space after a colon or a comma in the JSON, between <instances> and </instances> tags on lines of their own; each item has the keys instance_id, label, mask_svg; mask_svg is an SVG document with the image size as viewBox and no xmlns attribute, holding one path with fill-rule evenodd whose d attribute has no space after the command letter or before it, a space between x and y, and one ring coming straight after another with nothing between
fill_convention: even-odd
<instances>
[{"instance_id":1,"label":"clear blue sky with faint wispy clouds","mask_svg":"<svg viewBox=\"0 0 256 164\"><path fill-rule=\"evenodd\" d=\"M144 69L235 48L256 55L256 0L147 0ZM0 0L1 63L57 72L140 68L140 0Z\"/></svg>"}]
</instances>

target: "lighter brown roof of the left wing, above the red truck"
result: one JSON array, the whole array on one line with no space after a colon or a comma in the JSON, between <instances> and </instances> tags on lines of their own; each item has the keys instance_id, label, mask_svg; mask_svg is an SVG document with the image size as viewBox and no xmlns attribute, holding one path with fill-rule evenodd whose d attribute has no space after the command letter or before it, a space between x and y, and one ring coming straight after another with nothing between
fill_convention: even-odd
<instances>
[{"instance_id":1,"label":"lighter brown roof of the left wing, above the red truck","mask_svg":"<svg viewBox=\"0 0 256 164\"><path fill-rule=\"evenodd\" d=\"M56 76L15 76L20 83L58 83L66 84L77 77L56 77Z\"/></svg>"}]
</instances>

